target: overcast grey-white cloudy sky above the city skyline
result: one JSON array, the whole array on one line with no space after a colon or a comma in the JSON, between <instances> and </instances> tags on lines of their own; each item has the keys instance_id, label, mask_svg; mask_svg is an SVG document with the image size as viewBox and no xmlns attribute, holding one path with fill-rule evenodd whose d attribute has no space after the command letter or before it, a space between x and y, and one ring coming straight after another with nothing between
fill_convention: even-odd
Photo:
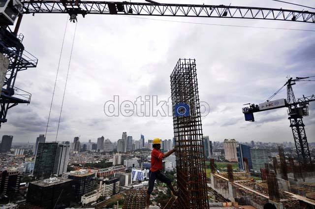
<instances>
[{"instance_id":1,"label":"overcast grey-white cloudy sky above the city skyline","mask_svg":"<svg viewBox=\"0 0 315 209\"><path fill-rule=\"evenodd\" d=\"M162 2L162 1L161 1ZM305 9L272 0L164 0ZM315 7L313 0L303 3ZM310 10L311 9L305 9ZM152 17L146 17L152 18ZM44 134L67 15L24 15L20 32L26 50L38 58L37 68L20 72L16 87L32 93L31 104L9 110L2 135L33 142ZM185 21L252 27L315 30L314 24L282 21L87 15L78 18L58 140L81 141L104 136L117 141L126 131L134 139L172 138L171 117L108 117L104 103L137 97L170 96L170 74L179 58L196 59L199 96L210 105L202 118L203 133L212 140L292 141L286 109L255 114L244 121L242 105L260 103L278 90L286 76L315 75L315 31L257 29L168 22ZM68 23L47 140L55 140L75 24ZM315 82L294 86L296 97L315 93ZM275 99L285 98L284 89ZM304 119L309 142L315 142L315 104Z\"/></svg>"}]
</instances>

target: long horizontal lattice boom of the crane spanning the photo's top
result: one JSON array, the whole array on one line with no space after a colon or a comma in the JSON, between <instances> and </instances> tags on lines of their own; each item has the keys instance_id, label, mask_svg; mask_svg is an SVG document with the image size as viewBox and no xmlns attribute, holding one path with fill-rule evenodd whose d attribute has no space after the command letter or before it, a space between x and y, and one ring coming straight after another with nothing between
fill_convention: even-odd
<instances>
[{"instance_id":1,"label":"long horizontal lattice boom of the crane spanning the photo's top","mask_svg":"<svg viewBox=\"0 0 315 209\"><path fill-rule=\"evenodd\" d=\"M24 13L119 14L238 18L315 23L315 13L263 7L82 0L24 0Z\"/></svg>"}]
</instances>

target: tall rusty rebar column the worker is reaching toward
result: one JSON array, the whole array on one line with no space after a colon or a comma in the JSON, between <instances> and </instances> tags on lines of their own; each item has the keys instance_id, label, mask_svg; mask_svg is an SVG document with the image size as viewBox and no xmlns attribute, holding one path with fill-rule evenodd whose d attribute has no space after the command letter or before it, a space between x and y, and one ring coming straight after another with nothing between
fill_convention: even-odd
<instances>
[{"instance_id":1,"label":"tall rusty rebar column the worker is reaching toward","mask_svg":"<svg viewBox=\"0 0 315 209\"><path fill-rule=\"evenodd\" d=\"M176 146L178 209L206 209L206 166L195 60L178 60L171 76L173 127ZM176 116L175 106L189 106L189 116Z\"/></svg>"}]
</instances>

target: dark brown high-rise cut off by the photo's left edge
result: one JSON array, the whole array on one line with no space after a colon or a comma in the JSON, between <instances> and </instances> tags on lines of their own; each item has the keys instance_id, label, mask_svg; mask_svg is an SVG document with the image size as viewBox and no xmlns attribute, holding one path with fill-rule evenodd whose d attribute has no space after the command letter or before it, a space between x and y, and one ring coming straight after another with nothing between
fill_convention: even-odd
<instances>
[{"instance_id":1,"label":"dark brown high-rise cut off by the photo's left edge","mask_svg":"<svg viewBox=\"0 0 315 209\"><path fill-rule=\"evenodd\" d=\"M1 197L11 197L16 195L20 188L22 175L18 171L3 170L0 171L0 194Z\"/></svg>"}]
</instances>

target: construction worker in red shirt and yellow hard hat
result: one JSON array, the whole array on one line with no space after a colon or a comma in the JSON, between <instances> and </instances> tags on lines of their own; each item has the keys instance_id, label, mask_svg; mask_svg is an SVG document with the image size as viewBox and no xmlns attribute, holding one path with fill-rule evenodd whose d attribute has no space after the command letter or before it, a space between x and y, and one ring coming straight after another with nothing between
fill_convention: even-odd
<instances>
[{"instance_id":1,"label":"construction worker in red shirt and yellow hard hat","mask_svg":"<svg viewBox=\"0 0 315 209\"><path fill-rule=\"evenodd\" d=\"M173 195L177 196L177 192L174 190L172 186L171 179L167 178L164 174L162 174L162 159L165 157L168 157L172 153L175 152L175 149L169 150L165 154L159 151L161 149L161 140L159 138L156 138L153 140L153 149L151 152L151 167L149 171L149 188L147 192L147 199L146 199L146 208L149 209L150 205L150 195L153 191L154 184L156 179L160 180L163 183L166 183L167 186L171 189L173 192Z\"/></svg>"}]
</instances>

